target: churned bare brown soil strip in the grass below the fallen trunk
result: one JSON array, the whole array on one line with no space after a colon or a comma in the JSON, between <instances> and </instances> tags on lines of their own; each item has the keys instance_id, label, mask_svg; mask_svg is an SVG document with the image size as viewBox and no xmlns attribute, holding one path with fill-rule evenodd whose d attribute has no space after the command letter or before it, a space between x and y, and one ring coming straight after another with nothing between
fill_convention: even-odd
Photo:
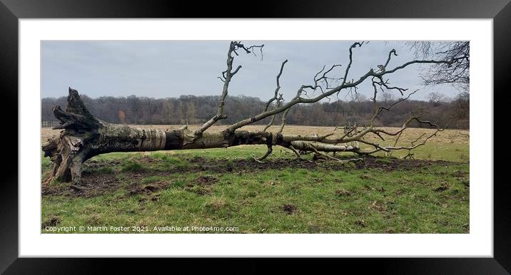
<instances>
[{"instance_id":1,"label":"churned bare brown soil strip in the grass below the fallen trunk","mask_svg":"<svg viewBox=\"0 0 511 275\"><path fill-rule=\"evenodd\" d=\"M97 161L89 160L84 163L84 172L82 173L82 190L75 190L70 188L70 184L60 183L51 184L48 181L42 182L43 195L66 195L69 197L95 197L106 192L118 190L123 182L128 182L129 194L149 194L158 190L163 190L171 182L159 181L151 182L150 184L143 184L143 179L150 176L178 176L183 173L190 172L211 172L211 173L237 173L245 175L247 173L255 173L263 170L282 170L285 168L293 169L323 169L323 170L353 170L353 169L377 169L381 171L395 171L395 170L413 170L417 168L429 167L431 165L454 165L457 162L447 162L442 160L402 160L397 158L380 158L380 157L366 157L360 162L341 163L335 161L318 161L311 162L310 160L295 159L295 160L268 160L263 163L255 162L253 160L239 159L239 160L221 160L211 159L206 157L192 157L183 158L190 164L188 167L171 167L165 171L126 171L126 172L102 172L101 168L104 167L119 167L123 164L121 160L113 161ZM152 157L141 157L137 162L144 164L158 164L161 160ZM94 172L94 170L99 170ZM123 176L123 180L118 179L118 175ZM456 177L461 176L462 172L457 172ZM200 176L197 177L195 182L188 183L186 188L191 192L197 194L210 194L211 185L218 182L218 178L213 176ZM442 191L442 190L437 190ZM343 196L345 194L338 194Z\"/></svg>"}]
</instances>

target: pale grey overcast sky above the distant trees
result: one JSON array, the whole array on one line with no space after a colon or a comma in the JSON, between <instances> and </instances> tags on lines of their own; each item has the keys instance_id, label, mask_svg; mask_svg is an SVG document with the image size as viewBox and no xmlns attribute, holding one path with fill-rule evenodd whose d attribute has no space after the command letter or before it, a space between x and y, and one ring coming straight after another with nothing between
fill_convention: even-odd
<instances>
[{"instance_id":1,"label":"pale grey overcast sky above the distant trees","mask_svg":"<svg viewBox=\"0 0 511 275\"><path fill-rule=\"evenodd\" d=\"M243 68L233 77L230 95L250 95L267 100L275 90L280 63L288 59L280 78L284 99L292 98L303 84L311 84L323 66L342 64L333 76L341 76L348 64L348 48L353 41L243 41L246 45L264 43L263 58L241 53L234 65ZM61 97L68 87L98 98L103 95L138 95L151 98L179 95L220 95L223 83L217 78L226 70L229 41L42 41L41 95ZM348 79L357 80L370 68L385 63L395 48L389 67L414 59L403 41L371 41L353 50L353 65ZM419 89L414 99L426 99L437 91L454 97L450 85L425 87L420 66L408 66L390 75L390 83L410 91ZM368 79L360 93L372 96ZM348 99L347 93L339 95ZM396 98L400 95L394 93Z\"/></svg>"}]
</instances>

